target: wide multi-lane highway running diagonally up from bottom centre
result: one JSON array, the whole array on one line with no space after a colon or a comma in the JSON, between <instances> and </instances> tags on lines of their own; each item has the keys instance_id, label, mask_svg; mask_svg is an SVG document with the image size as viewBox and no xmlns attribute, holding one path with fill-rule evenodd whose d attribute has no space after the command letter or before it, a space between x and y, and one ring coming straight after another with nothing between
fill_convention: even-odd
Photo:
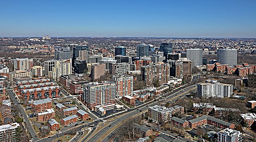
<instances>
[{"instance_id":1,"label":"wide multi-lane highway running diagonally up from bottom centre","mask_svg":"<svg viewBox=\"0 0 256 142\"><path fill-rule=\"evenodd\" d=\"M196 90L196 85L192 85L189 87L186 87L185 89L177 89L173 92L169 92L167 93L167 97L165 98L166 100L175 100L180 96L185 96L187 93L189 93L190 91L194 91ZM164 97L165 95L163 95ZM145 104L141 107L137 107L134 110L130 110L129 112L127 112L127 114L125 114L124 116L116 119L115 121L111 122L110 124L106 125L104 128L102 128L101 130L99 130L97 133L95 133L93 136L90 136L89 139L83 139L81 142L96 142L98 139L103 139L102 142L108 142L108 140L110 139L110 136L105 136L105 134L107 132L111 131L112 127L115 127L116 125L118 125L119 123L121 123L123 120L131 118L133 116L139 116L142 114L141 111L147 110L148 107L152 107L154 105L157 105L158 102L157 101L152 101L149 104ZM139 110L137 110L139 109ZM111 132L109 135L113 135L114 133L117 133L117 130L114 130L113 132Z\"/></svg>"}]
</instances>

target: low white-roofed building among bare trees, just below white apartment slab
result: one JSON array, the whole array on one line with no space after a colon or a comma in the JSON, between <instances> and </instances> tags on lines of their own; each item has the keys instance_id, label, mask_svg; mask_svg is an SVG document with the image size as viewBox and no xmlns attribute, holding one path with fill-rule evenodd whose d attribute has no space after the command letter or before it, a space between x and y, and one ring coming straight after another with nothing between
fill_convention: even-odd
<instances>
[{"instance_id":1,"label":"low white-roofed building among bare trees, just below white apartment slab","mask_svg":"<svg viewBox=\"0 0 256 142\"><path fill-rule=\"evenodd\" d=\"M208 114L214 107L212 103L193 103L193 113Z\"/></svg>"}]
</instances>

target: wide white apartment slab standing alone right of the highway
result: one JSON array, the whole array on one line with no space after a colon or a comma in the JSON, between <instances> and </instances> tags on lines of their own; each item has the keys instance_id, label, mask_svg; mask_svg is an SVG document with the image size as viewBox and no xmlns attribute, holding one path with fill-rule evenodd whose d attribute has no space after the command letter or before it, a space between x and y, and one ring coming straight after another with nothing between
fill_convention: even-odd
<instances>
[{"instance_id":1,"label":"wide white apartment slab standing alone right of the highway","mask_svg":"<svg viewBox=\"0 0 256 142\"><path fill-rule=\"evenodd\" d=\"M202 98L224 98L233 94L233 85L219 83L215 80L206 80L205 83L197 84L198 95Z\"/></svg>"}]
</instances>

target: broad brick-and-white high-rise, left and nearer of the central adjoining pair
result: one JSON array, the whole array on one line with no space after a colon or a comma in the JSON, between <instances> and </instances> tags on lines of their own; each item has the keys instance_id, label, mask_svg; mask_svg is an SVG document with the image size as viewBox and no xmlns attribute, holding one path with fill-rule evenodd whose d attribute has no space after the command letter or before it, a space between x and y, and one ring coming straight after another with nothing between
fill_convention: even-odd
<instances>
[{"instance_id":1,"label":"broad brick-and-white high-rise, left and nearer of the central adjoining pair","mask_svg":"<svg viewBox=\"0 0 256 142\"><path fill-rule=\"evenodd\" d=\"M115 102L116 97L116 83L105 81L102 83L93 82L84 84L84 93L82 101L88 107L94 107L102 104L110 104Z\"/></svg>"}]
</instances>

